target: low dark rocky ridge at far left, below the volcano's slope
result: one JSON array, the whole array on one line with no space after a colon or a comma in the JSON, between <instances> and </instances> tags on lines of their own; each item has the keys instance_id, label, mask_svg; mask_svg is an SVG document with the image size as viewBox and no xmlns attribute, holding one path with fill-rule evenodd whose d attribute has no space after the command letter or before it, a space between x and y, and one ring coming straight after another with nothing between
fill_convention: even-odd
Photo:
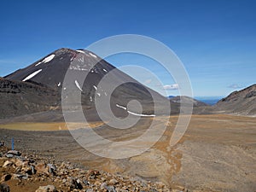
<instances>
[{"instance_id":1,"label":"low dark rocky ridge at far left, below the volcano's slope","mask_svg":"<svg viewBox=\"0 0 256 192\"><path fill-rule=\"evenodd\" d=\"M44 84L0 78L0 118L58 108L58 92Z\"/></svg>"}]
</instances>

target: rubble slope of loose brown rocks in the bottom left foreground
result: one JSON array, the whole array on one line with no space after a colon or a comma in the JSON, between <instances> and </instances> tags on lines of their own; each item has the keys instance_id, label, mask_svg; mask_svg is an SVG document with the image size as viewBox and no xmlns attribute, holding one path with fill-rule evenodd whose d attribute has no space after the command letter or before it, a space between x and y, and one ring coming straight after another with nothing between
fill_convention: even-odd
<instances>
[{"instance_id":1,"label":"rubble slope of loose brown rocks in the bottom left foreground","mask_svg":"<svg viewBox=\"0 0 256 192\"><path fill-rule=\"evenodd\" d=\"M138 177L125 177L97 170L85 170L68 162L55 162L2 147L0 150L0 192L9 191L187 191L168 189Z\"/></svg>"}]
</instances>

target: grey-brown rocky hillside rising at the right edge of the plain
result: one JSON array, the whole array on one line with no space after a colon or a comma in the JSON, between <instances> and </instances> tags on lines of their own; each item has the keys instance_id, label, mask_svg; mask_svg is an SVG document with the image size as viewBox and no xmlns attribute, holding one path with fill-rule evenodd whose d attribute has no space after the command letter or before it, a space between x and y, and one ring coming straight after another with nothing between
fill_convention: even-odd
<instances>
[{"instance_id":1,"label":"grey-brown rocky hillside rising at the right edge of the plain","mask_svg":"<svg viewBox=\"0 0 256 192\"><path fill-rule=\"evenodd\" d=\"M256 84L243 90L232 92L220 100L214 107L218 113L235 113L240 115L256 115Z\"/></svg>"}]
</instances>

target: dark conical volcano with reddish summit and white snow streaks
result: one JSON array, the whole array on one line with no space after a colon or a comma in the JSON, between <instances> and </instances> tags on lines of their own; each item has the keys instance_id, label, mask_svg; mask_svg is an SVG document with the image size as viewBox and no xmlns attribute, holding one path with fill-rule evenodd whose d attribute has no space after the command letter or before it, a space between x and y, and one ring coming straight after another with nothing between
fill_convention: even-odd
<instances>
[{"instance_id":1,"label":"dark conical volcano with reddish summit and white snow streaks","mask_svg":"<svg viewBox=\"0 0 256 192\"><path fill-rule=\"evenodd\" d=\"M73 64L71 65L71 63ZM94 63L96 65L93 67ZM63 87L67 70L73 74L68 83L71 86ZM128 110L134 113L153 114L155 113L155 103L158 103L159 109L163 113L166 111L166 102L169 101L164 96L160 96L154 90L140 84L88 50L57 49L32 65L19 69L4 78L20 83L32 81L55 90L58 94L58 108L61 108L62 88L67 92L67 96L73 96L79 91L84 113L90 116L91 120L96 120L100 118L96 114L95 97L103 99L108 94L108 88L100 87L98 84L109 72L112 72L109 84L119 84L111 93L110 99L110 106L114 115L126 116L129 113ZM85 74L87 76L83 82L81 77L84 77ZM128 103L132 100L140 102L143 111L138 110L136 105L130 105L127 108ZM176 103L171 103L173 104L172 113L178 113ZM73 105L76 104L73 103ZM120 106L126 109L120 108Z\"/></svg>"}]
</instances>

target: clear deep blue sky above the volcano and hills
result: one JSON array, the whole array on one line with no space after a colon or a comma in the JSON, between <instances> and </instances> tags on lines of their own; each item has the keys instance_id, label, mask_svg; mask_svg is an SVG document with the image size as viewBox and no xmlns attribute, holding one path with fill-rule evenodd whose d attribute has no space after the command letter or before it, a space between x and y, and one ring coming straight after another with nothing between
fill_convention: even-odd
<instances>
[{"instance_id":1,"label":"clear deep blue sky above the volcano and hills","mask_svg":"<svg viewBox=\"0 0 256 192\"><path fill-rule=\"evenodd\" d=\"M0 7L0 76L61 47L85 48L132 33L169 46L183 61L195 96L226 96L256 83L256 1L3 0ZM161 70L157 75L175 84Z\"/></svg>"}]
</instances>

